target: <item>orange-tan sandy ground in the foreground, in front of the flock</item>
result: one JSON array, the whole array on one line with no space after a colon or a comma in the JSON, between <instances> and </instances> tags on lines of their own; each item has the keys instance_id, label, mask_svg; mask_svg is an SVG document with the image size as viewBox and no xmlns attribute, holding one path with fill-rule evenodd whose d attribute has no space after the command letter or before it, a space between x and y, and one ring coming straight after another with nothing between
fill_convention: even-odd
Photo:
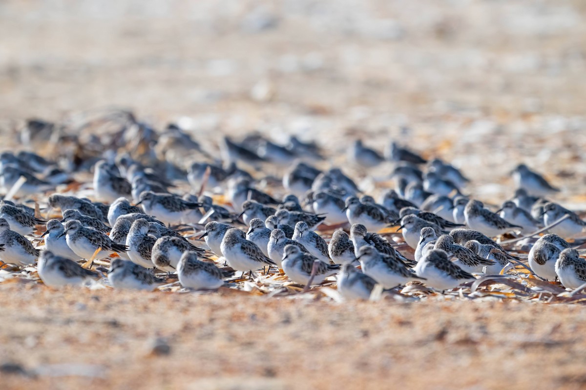
<instances>
[{"instance_id":1,"label":"orange-tan sandy ground in the foreground, in front of the flock","mask_svg":"<svg viewBox=\"0 0 586 390\"><path fill-rule=\"evenodd\" d=\"M580 306L340 305L226 292L80 294L30 284L0 291L0 358L40 373L3 373L3 388L578 389L586 383ZM158 338L168 354L154 352Z\"/></svg>"}]
</instances>

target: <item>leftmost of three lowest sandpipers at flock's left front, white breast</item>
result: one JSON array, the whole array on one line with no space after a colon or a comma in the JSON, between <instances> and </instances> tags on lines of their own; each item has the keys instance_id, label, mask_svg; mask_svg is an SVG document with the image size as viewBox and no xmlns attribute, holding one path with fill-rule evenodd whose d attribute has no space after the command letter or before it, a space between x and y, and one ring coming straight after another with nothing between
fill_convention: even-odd
<instances>
[{"instance_id":1,"label":"leftmost of three lowest sandpipers at flock's left front, white breast","mask_svg":"<svg viewBox=\"0 0 586 390\"><path fill-rule=\"evenodd\" d=\"M83 285L100 277L96 271L86 270L74 261L48 250L40 253L38 271L43 283L53 288L65 285Z\"/></svg>"}]
</instances>

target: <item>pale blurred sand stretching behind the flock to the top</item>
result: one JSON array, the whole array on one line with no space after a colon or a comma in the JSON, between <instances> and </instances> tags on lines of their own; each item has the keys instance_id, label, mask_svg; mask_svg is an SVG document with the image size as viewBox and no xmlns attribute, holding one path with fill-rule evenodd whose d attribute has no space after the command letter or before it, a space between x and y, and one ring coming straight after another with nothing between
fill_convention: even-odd
<instances>
[{"instance_id":1,"label":"pale blurred sand stretching behind the flock to the top","mask_svg":"<svg viewBox=\"0 0 586 390\"><path fill-rule=\"evenodd\" d=\"M393 137L492 182L584 170L582 0L4 0L0 36L3 129L122 106L203 143Z\"/></svg>"}]
</instances>

